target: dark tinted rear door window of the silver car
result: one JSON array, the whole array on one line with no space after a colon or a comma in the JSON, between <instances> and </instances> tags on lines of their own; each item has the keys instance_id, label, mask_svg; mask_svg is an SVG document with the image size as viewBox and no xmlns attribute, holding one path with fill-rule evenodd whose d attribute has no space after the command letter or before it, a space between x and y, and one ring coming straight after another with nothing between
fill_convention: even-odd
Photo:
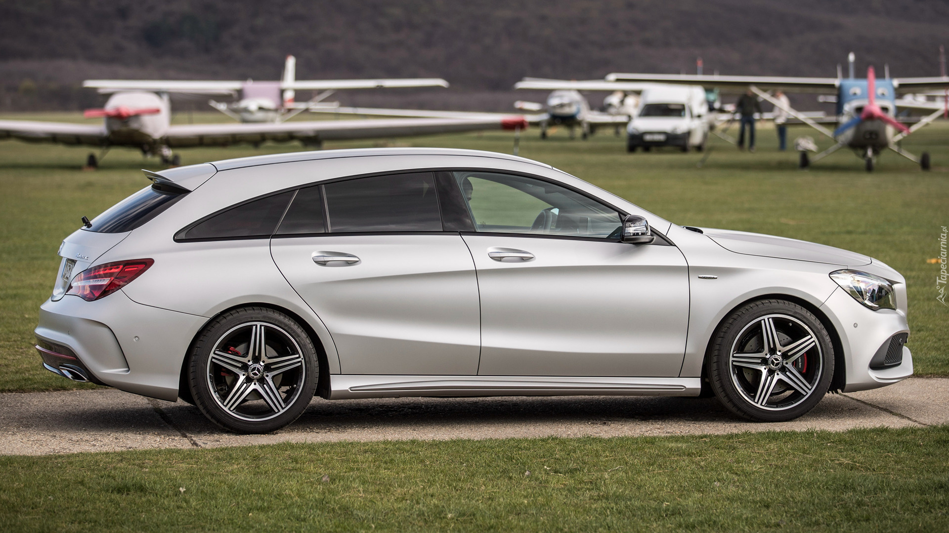
<instances>
[{"instance_id":1,"label":"dark tinted rear door window of the silver car","mask_svg":"<svg viewBox=\"0 0 949 533\"><path fill-rule=\"evenodd\" d=\"M432 173L360 177L323 189L329 232L442 230Z\"/></svg>"}]
</instances>

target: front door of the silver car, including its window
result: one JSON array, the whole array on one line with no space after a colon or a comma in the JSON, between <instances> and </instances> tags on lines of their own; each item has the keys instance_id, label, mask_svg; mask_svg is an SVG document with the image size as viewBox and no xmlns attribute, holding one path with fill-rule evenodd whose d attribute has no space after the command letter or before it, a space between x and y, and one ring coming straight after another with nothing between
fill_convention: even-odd
<instances>
[{"instance_id":1,"label":"front door of the silver car, including its window","mask_svg":"<svg viewBox=\"0 0 949 533\"><path fill-rule=\"evenodd\" d=\"M679 376L689 311L679 248L619 240L621 213L522 175L455 172L481 300L479 375Z\"/></svg>"}]
</instances>

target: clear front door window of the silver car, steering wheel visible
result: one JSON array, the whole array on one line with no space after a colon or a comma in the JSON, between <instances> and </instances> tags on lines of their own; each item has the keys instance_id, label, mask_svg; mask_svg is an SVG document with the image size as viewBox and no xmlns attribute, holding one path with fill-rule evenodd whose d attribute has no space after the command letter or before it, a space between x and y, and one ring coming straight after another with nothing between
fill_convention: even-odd
<instances>
[{"instance_id":1,"label":"clear front door window of the silver car, steering wheel visible","mask_svg":"<svg viewBox=\"0 0 949 533\"><path fill-rule=\"evenodd\" d=\"M566 187L520 175L456 172L477 231L613 238L620 213Z\"/></svg>"}]
</instances>

